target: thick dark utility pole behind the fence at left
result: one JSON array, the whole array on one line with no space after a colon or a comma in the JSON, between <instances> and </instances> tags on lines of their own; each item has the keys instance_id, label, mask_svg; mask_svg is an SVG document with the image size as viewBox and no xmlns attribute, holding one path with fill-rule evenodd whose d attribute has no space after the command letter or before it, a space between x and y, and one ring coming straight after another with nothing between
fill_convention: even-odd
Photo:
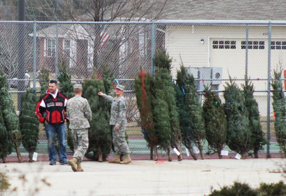
<instances>
[{"instance_id":1,"label":"thick dark utility pole behind the fence at left","mask_svg":"<svg viewBox=\"0 0 286 196\"><path fill-rule=\"evenodd\" d=\"M18 21L25 21L25 0L18 0ZM25 90L25 24L18 24L18 53L17 53L17 76L18 76L18 91ZM17 95L18 110L21 109L22 93Z\"/></svg>"}]
</instances>

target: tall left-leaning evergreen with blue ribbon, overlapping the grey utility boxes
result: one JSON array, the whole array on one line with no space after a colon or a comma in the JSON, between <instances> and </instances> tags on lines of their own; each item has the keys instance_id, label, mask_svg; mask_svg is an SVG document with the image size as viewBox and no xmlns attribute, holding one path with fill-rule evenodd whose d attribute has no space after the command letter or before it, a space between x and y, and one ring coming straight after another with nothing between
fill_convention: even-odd
<instances>
[{"instance_id":1,"label":"tall left-leaning evergreen with blue ribbon, overlapping the grey utility boxes","mask_svg":"<svg viewBox=\"0 0 286 196\"><path fill-rule=\"evenodd\" d=\"M177 85L180 86L181 91L184 89L184 105L186 106L186 111L188 112L192 122L189 125L192 128L192 133L185 133L183 135L183 140L186 140L185 142L188 141L188 148L191 148L190 136L192 136L194 144L196 144L200 150L201 158L204 159L202 147L206 139L206 133L204 128L204 118L202 116L202 107L197 94L196 82L192 75L187 74L184 66L181 66L180 68L181 70L177 72Z\"/></svg>"}]
</instances>

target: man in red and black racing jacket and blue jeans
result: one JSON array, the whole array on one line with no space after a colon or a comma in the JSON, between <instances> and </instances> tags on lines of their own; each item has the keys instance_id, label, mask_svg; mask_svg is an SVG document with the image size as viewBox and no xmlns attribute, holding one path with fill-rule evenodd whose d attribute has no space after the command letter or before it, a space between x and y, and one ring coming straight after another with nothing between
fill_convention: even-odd
<instances>
[{"instance_id":1,"label":"man in red and black racing jacket and blue jeans","mask_svg":"<svg viewBox=\"0 0 286 196\"><path fill-rule=\"evenodd\" d=\"M55 150L55 133L59 140L59 163L69 165L67 162L65 138L65 122L69 119L65 116L67 98L58 91L56 80L50 80L49 89L40 97L36 107L36 115L40 123L44 123L48 140L48 155L50 165L55 165L57 152Z\"/></svg>"}]
</instances>

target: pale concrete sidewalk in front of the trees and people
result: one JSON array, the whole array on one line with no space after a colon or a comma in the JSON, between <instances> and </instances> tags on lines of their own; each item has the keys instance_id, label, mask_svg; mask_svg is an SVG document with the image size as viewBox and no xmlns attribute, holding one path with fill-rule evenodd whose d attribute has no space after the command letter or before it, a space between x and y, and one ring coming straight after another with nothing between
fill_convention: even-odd
<instances>
[{"instance_id":1,"label":"pale concrete sidewalk in front of the trees and people","mask_svg":"<svg viewBox=\"0 0 286 196\"><path fill-rule=\"evenodd\" d=\"M132 161L128 165L84 161L84 172L49 162L1 163L11 190L3 195L189 195L203 196L234 181L257 187L286 178L285 159ZM282 168L283 167L283 168ZM1 195L1 193L0 193Z\"/></svg>"}]
</instances>

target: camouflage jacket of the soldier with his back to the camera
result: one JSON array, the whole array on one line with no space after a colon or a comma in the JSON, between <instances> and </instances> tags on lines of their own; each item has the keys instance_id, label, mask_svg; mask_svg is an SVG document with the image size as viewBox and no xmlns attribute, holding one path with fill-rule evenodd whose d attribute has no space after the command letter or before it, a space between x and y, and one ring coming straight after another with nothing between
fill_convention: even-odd
<instances>
[{"instance_id":1,"label":"camouflage jacket of the soldier with his back to the camera","mask_svg":"<svg viewBox=\"0 0 286 196\"><path fill-rule=\"evenodd\" d=\"M91 121L92 113L88 100L79 95L70 98L67 101L67 116L70 121L70 129L89 128L89 121Z\"/></svg>"}]
</instances>

